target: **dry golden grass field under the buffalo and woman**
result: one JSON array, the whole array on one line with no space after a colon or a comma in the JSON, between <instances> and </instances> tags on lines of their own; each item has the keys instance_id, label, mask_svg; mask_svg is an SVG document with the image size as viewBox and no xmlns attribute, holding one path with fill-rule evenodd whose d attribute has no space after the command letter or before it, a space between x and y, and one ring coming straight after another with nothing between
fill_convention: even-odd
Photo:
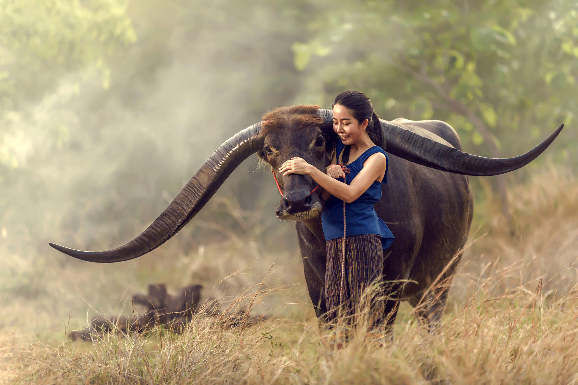
<instances>
[{"instance_id":1,"label":"dry golden grass field under the buffalo and woman","mask_svg":"<svg viewBox=\"0 0 578 385\"><path fill-rule=\"evenodd\" d=\"M221 228L226 241L187 252L176 237L114 265L5 248L0 382L578 383L578 182L550 168L509 190L509 201L512 226L489 200L477 205L438 335L402 304L394 341L357 331L340 350L313 316L290 224L280 224L280 250L263 246L262 228L251 225L242 234ZM270 212L238 219L258 224ZM254 300L253 312L272 318L234 329L196 319L184 334L157 329L94 345L65 338L97 311L128 314L132 293L154 282L201 283L232 306Z\"/></svg>"}]
</instances>

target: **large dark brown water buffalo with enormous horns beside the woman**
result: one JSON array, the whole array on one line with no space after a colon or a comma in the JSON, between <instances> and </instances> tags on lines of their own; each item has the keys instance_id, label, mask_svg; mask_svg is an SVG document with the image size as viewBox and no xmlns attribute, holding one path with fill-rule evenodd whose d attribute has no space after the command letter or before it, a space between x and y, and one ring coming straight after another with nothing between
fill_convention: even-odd
<instances>
[{"instance_id":1,"label":"large dark brown water buffalo with enormous horns beside the woman","mask_svg":"<svg viewBox=\"0 0 578 385\"><path fill-rule=\"evenodd\" d=\"M467 175L489 176L513 171L539 156L562 126L528 153L514 158L485 158L462 152L460 138L439 120L381 120L386 152L390 155L388 183L375 209L395 235L384 250L384 280L409 280L390 286L386 303L388 324L397 314L399 300L425 304L417 309L421 322L439 323L447 291L472 221L473 200ZM164 212L134 240L109 251L55 249L91 262L119 262L137 258L161 246L202 209L233 170L251 154L271 165L283 191L277 217L297 220L297 235L309 295L322 317L325 240L319 213L320 188L309 176L281 176L277 168L293 156L324 170L335 149L332 111L297 105L282 107L221 145L179 192ZM444 282L429 290L435 282Z\"/></svg>"}]
</instances>

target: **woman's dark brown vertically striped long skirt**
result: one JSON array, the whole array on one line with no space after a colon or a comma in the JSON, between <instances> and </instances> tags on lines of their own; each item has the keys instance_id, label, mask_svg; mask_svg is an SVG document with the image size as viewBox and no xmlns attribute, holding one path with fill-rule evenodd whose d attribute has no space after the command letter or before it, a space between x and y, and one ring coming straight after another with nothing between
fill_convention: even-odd
<instances>
[{"instance_id":1,"label":"woman's dark brown vertically striped long skirt","mask_svg":"<svg viewBox=\"0 0 578 385\"><path fill-rule=\"evenodd\" d=\"M343 237L327 241L327 267L325 268L325 296L327 300L327 321L335 322L339 316L345 316L348 323L355 322L354 315L360 311L360 301L364 290L381 281L383 269L383 248L381 236L362 234L346 236L345 271L343 284L343 304L340 304L341 260ZM383 298L379 290L368 298L370 324L379 327L383 324ZM340 314L340 307L342 313Z\"/></svg>"}]
</instances>

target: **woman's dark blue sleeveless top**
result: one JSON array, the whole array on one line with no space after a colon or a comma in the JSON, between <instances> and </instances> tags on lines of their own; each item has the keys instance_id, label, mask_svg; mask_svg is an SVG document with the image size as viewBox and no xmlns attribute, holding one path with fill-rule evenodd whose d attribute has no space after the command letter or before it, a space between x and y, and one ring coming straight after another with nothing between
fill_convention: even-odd
<instances>
[{"instance_id":1,"label":"woman's dark blue sleeveless top","mask_svg":"<svg viewBox=\"0 0 578 385\"><path fill-rule=\"evenodd\" d=\"M341 139L336 144L336 159L345 148ZM347 165L351 173L346 176L347 184L361 171L363 163L373 154L380 152L387 158L386 173L381 183L387 183L387 169L390 161L386 152L380 146L373 146L367 149L357 159ZM343 178L339 178L343 182ZM374 180L369 188L361 196L351 203L345 205L346 235L378 234L381 235L381 246L390 247L394 241L394 236L387 227L386 222L377 216L373 203L381 198L381 183ZM343 201L331 195L325 203L325 210L321 213L321 224L325 240L343 237Z\"/></svg>"}]
</instances>

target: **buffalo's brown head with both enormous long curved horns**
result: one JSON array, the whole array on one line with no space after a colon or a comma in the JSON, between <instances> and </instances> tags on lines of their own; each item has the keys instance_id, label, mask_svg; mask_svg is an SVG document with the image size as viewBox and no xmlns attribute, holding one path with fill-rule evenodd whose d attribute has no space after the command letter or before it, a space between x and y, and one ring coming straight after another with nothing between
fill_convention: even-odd
<instances>
[{"instance_id":1,"label":"buffalo's brown head with both enormous long curved horns","mask_svg":"<svg viewBox=\"0 0 578 385\"><path fill-rule=\"evenodd\" d=\"M317 112L317 116L314 115ZM562 130L558 127L542 143L514 158L485 158L455 149L429 131L412 131L380 120L386 151L417 164L463 175L489 176L510 172L539 156ZM327 126L326 126L327 125ZM224 142L195 173L177 197L154 222L135 239L108 251L72 250L50 243L55 249L91 262L120 262L137 258L161 246L199 212L234 169L251 154L271 164L274 171L291 156L301 156L319 169L329 163L332 111L298 105L279 108L264 121L240 131ZM324 132L326 131L326 134ZM335 137L334 137L335 138ZM277 215L305 219L320 209L318 192L310 194L313 181L302 175L281 178L284 188Z\"/></svg>"}]
</instances>

